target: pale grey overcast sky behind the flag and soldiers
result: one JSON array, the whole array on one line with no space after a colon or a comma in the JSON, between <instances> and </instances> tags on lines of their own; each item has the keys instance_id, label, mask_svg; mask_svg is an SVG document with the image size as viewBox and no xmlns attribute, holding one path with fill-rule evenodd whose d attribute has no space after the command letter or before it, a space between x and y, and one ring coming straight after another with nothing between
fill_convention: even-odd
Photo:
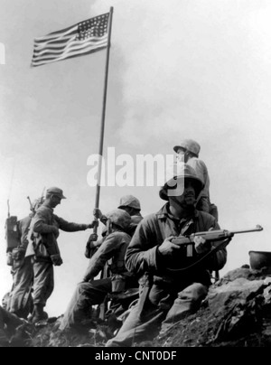
<instances>
[{"instance_id":1,"label":"pale grey overcast sky behind the flag and soldiers","mask_svg":"<svg viewBox=\"0 0 271 365\"><path fill-rule=\"evenodd\" d=\"M44 186L67 196L56 213L92 220L95 188L89 155L98 153L106 51L31 69L33 38L114 6L105 147L117 154L172 154L182 138L201 144L210 197L225 229L238 236L222 270L248 264L248 251L270 250L271 4L268 0L0 0L0 297L12 285L5 264L6 201L28 214L26 197ZM105 149L105 152L107 151ZM101 209L132 193L143 213L164 202L157 187L101 190ZM51 315L62 314L87 259L89 232L61 232Z\"/></svg>"}]
</instances>

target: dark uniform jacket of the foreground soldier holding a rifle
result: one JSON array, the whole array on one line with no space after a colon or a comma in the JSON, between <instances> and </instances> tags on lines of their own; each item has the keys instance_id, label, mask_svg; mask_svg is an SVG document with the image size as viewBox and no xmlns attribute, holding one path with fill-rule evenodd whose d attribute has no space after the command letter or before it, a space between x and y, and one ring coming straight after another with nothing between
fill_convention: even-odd
<instances>
[{"instance_id":1,"label":"dark uniform jacket of the foreground soldier holding a rifle","mask_svg":"<svg viewBox=\"0 0 271 365\"><path fill-rule=\"evenodd\" d=\"M180 268L192 265L200 258L194 248L192 257L187 257L186 248L180 248L172 257L164 257L158 250L164 239L170 236L186 236L209 229L220 229L210 214L195 210L190 219L176 220L167 203L158 213L145 217L135 230L135 235L126 250L126 267L136 276L148 273L174 285L185 286L194 282L210 285L210 271L220 270L226 263L226 248L202 261L201 265L182 272L169 272L166 267ZM218 242L213 243L214 246L217 244Z\"/></svg>"}]
</instances>

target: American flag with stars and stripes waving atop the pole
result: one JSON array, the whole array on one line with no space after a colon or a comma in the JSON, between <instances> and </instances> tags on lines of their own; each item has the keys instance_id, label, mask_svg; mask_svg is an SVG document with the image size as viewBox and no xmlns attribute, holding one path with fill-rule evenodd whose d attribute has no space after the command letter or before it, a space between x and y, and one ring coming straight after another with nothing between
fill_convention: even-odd
<instances>
[{"instance_id":1,"label":"American flag with stars and stripes waving atop the pole","mask_svg":"<svg viewBox=\"0 0 271 365\"><path fill-rule=\"evenodd\" d=\"M34 39L32 66L99 51L108 45L109 13Z\"/></svg>"}]
</instances>

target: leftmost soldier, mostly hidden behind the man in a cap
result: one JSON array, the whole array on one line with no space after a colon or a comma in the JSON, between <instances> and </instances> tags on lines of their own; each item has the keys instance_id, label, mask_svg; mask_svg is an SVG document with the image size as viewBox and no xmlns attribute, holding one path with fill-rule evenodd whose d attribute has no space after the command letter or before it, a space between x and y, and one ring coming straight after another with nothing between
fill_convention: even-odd
<instances>
[{"instance_id":1,"label":"leftmost soldier, mostly hidden behind the man in a cap","mask_svg":"<svg viewBox=\"0 0 271 365\"><path fill-rule=\"evenodd\" d=\"M43 198L33 202L31 214L18 222L19 246L12 250L13 289L10 294L8 309L18 317L27 318L33 309L31 295L33 287L33 264L31 257L25 257L28 247L28 233L35 211L42 205Z\"/></svg>"}]
</instances>

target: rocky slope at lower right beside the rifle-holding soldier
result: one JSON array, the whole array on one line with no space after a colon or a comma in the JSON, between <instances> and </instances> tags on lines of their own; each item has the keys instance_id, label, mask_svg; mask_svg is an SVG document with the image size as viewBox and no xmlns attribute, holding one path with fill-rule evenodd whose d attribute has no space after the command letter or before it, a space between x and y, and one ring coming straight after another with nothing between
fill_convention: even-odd
<instances>
[{"instance_id":1,"label":"rocky slope at lower right beside the rifle-holding soldier","mask_svg":"<svg viewBox=\"0 0 271 365\"><path fill-rule=\"evenodd\" d=\"M229 272L197 314L154 346L266 347L271 345L271 276L247 267Z\"/></svg>"}]
</instances>

